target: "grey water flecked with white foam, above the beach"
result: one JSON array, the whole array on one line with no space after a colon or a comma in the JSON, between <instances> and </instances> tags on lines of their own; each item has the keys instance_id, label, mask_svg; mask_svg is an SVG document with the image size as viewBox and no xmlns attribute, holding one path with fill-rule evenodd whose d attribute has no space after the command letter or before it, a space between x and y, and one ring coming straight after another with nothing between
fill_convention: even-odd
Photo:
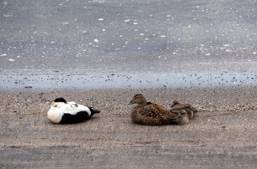
<instances>
[{"instance_id":1,"label":"grey water flecked with white foam, above the beach","mask_svg":"<svg viewBox=\"0 0 257 169\"><path fill-rule=\"evenodd\" d=\"M256 85L257 2L0 1L0 84Z\"/></svg>"}]
</instances>

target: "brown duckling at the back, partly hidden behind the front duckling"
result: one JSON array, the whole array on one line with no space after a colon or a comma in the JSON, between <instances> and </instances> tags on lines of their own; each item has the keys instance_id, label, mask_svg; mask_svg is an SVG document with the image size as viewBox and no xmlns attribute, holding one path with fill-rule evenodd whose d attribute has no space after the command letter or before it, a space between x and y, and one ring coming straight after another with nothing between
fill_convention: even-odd
<instances>
[{"instance_id":1,"label":"brown duckling at the back, partly hidden behind the front duckling","mask_svg":"<svg viewBox=\"0 0 257 169\"><path fill-rule=\"evenodd\" d=\"M173 101L173 105L170 106L170 112L173 112L178 115L175 111L185 110L187 111L187 115L189 119L192 119L194 114L197 112L196 108L191 106L190 104L180 104L179 101Z\"/></svg>"}]
</instances>

